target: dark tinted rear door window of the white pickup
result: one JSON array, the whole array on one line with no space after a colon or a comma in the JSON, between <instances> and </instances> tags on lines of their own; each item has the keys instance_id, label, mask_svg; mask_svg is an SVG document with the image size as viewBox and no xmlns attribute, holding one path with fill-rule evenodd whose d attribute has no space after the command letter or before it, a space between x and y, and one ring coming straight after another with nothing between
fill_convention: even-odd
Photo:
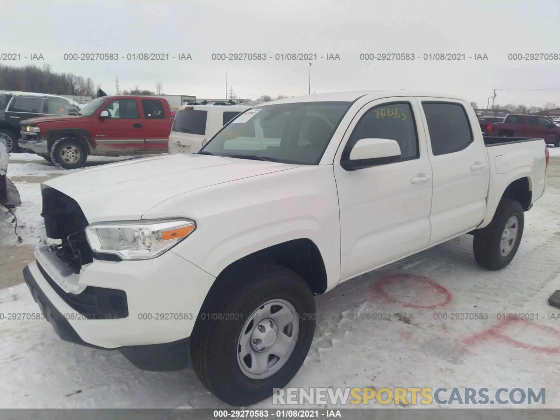
<instances>
[{"instance_id":1,"label":"dark tinted rear door window of the white pickup","mask_svg":"<svg viewBox=\"0 0 560 420\"><path fill-rule=\"evenodd\" d=\"M463 150L473 142L466 111L460 104L422 102L433 155Z\"/></svg>"}]
</instances>

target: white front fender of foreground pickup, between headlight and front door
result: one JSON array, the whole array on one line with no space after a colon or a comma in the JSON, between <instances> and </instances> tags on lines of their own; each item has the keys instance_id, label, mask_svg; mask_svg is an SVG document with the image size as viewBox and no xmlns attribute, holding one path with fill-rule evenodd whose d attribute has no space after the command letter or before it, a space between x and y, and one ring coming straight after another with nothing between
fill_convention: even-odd
<instances>
[{"instance_id":1,"label":"white front fender of foreground pickup, between headlight and front door","mask_svg":"<svg viewBox=\"0 0 560 420\"><path fill-rule=\"evenodd\" d=\"M193 218L197 229L173 251L217 277L237 260L282 242L309 239L340 279L340 218L332 166L308 166L181 194L143 218Z\"/></svg>"}]
</instances>

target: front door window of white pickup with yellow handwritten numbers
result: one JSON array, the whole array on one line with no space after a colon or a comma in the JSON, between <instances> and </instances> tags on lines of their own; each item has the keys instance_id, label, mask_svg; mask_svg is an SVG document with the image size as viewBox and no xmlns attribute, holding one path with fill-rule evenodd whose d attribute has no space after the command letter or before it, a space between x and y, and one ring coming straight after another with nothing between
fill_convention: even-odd
<instances>
[{"instance_id":1,"label":"front door window of white pickup with yellow handwritten numbers","mask_svg":"<svg viewBox=\"0 0 560 420\"><path fill-rule=\"evenodd\" d=\"M343 160L362 138L395 140L400 146L400 161L420 156L416 123L408 102L376 106L363 114L344 148Z\"/></svg>"}]
</instances>

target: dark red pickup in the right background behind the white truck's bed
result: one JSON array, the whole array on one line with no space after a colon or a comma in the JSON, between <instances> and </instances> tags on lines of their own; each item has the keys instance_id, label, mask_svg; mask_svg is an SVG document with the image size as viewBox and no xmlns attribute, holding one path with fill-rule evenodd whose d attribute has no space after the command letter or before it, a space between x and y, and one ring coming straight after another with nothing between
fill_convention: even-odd
<instances>
[{"instance_id":1,"label":"dark red pickup in the right background behind the white truck's bed","mask_svg":"<svg viewBox=\"0 0 560 420\"><path fill-rule=\"evenodd\" d=\"M486 132L491 137L544 138L545 143L560 146L560 127L544 116L509 114L503 123L489 123Z\"/></svg>"}]
</instances>

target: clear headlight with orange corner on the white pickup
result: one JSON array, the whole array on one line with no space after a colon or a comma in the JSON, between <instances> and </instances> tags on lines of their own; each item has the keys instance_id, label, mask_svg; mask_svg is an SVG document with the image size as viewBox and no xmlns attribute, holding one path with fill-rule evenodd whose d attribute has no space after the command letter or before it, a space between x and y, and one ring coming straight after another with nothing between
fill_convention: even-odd
<instances>
[{"instance_id":1,"label":"clear headlight with orange corner on the white pickup","mask_svg":"<svg viewBox=\"0 0 560 420\"><path fill-rule=\"evenodd\" d=\"M193 220L177 218L92 223L85 231L95 253L115 254L124 260L146 260L173 248L195 228Z\"/></svg>"}]
</instances>

